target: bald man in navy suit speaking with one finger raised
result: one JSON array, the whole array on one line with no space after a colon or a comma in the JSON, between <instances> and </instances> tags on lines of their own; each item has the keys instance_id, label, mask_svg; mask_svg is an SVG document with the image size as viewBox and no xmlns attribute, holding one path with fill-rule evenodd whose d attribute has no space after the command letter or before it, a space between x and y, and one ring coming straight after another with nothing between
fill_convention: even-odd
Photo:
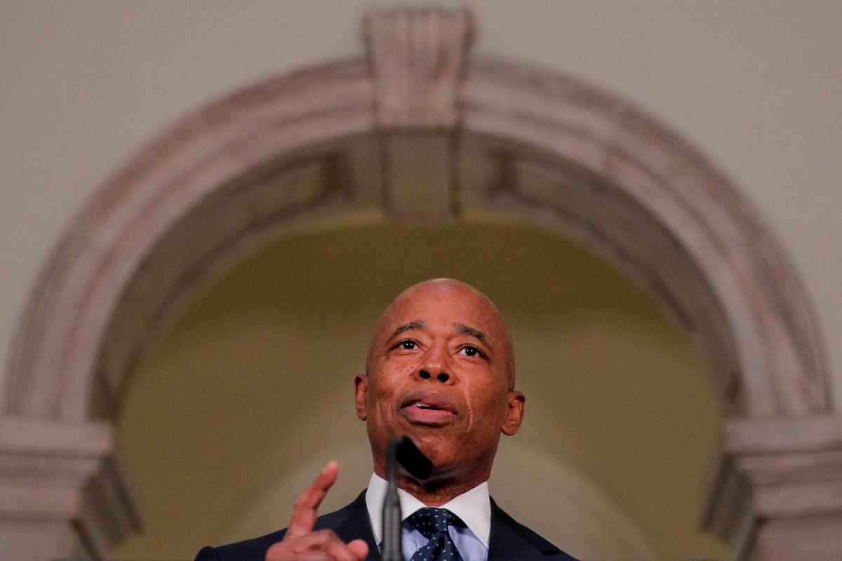
<instances>
[{"instance_id":1,"label":"bald man in navy suit speaking with one finger raised","mask_svg":"<svg viewBox=\"0 0 842 561\"><path fill-rule=\"evenodd\" d=\"M397 472L407 561L575 561L488 495L500 433L518 431L525 403L514 389L509 329L488 297L446 278L405 290L378 320L354 389L374 463L368 489L317 517L338 475L328 463L296 500L286 530L204 548L196 561L381 559L386 457L396 436L410 437L433 463L426 479Z\"/></svg>"}]
</instances>

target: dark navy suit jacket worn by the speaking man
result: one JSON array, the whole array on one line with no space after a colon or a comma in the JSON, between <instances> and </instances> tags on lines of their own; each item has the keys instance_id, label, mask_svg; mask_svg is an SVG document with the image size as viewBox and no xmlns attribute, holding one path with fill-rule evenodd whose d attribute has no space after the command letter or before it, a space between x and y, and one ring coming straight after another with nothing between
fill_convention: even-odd
<instances>
[{"instance_id":1,"label":"dark navy suit jacket worn by the speaking man","mask_svg":"<svg viewBox=\"0 0 842 561\"><path fill-rule=\"evenodd\" d=\"M314 529L329 528L343 542L364 539L369 546L367 561L381 561L380 550L371 532L365 491L354 502L336 512L319 516ZM255 537L244 542L218 548L203 548L195 561L264 561L266 550L274 542L284 539L286 530ZM465 561L473 561L465 559ZM518 524L491 501L491 536L488 543L488 561L576 561L561 549L547 542L529 528Z\"/></svg>"}]
</instances>

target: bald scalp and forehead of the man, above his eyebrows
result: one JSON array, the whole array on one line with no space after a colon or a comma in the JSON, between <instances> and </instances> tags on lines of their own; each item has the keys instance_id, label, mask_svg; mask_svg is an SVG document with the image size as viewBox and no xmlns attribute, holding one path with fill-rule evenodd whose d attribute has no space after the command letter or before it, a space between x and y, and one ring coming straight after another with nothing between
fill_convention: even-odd
<instances>
[{"instance_id":1,"label":"bald scalp and forehead of the man, above his eyebrows","mask_svg":"<svg viewBox=\"0 0 842 561\"><path fill-rule=\"evenodd\" d=\"M366 373L370 373L371 361L378 342L394 336L394 331L397 329L416 327L418 326L416 322L424 322L424 318L414 317L418 314L413 315L413 313L414 310L424 308L426 305L431 305L435 309L446 306L453 309L456 318L466 318L454 322L457 329L477 336L497 349L498 359L505 365L509 389L514 388L514 346L503 315L488 296L470 284L453 278L433 278L413 284L392 300L392 304L389 304L380 316L380 320L377 320L365 361Z\"/></svg>"}]
</instances>

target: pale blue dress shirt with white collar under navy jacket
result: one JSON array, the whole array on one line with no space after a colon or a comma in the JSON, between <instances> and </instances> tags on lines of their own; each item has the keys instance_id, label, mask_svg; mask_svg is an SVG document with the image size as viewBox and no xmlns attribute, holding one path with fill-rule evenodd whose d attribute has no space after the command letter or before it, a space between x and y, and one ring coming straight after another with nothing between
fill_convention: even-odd
<instances>
[{"instance_id":1,"label":"pale blue dress shirt with white collar under navy jacket","mask_svg":"<svg viewBox=\"0 0 842 561\"><path fill-rule=\"evenodd\" d=\"M371 474L368 490L365 492L365 506L369 511L371 530L378 548L383 545L383 499L386 497L386 479ZM418 532L407 518L415 511L425 508L420 500L402 489L397 490L401 501L403 558L410 559L419 548L429 542L428 537ZM448 531L456 549L464 561L488 561L488 536L491 534L491 499L488 496L488 482L474 487L450 500L439 508L446 508L465 522L466 527L449 527Z\"/></svg>"}]
</instances>

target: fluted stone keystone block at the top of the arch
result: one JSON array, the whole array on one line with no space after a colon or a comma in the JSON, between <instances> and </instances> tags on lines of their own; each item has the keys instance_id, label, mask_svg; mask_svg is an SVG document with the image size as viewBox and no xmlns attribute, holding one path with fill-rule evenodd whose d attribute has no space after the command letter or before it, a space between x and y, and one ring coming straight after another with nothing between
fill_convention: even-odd
<instances>
[{"instance_id":1,"label":"fluted stone keystone block at the top of the arch","mask_svg":"<svg viewBox=\"0 0 842 561\"><path fill-rule=\"evenodd\" d=\"M455 130L472 40L466 10L372 11L363 23L381 134L386 211L437 224L459 212Z\"/></svg>"}]
</instances>

